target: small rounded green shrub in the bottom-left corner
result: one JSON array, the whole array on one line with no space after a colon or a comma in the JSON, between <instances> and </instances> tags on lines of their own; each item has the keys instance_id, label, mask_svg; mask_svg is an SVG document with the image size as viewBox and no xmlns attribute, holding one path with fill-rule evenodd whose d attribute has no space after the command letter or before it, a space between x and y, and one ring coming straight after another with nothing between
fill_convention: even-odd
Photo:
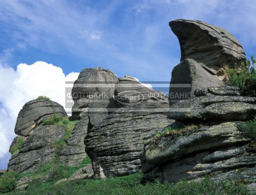
<instances>
[{"instance_id":1,"label":"small rounded green shrub in the bottom-left corner","mask_svg":"<svg viewBox=\"0 0 256 195\"><path fill-rule=\"evenodd\" d=\"M0 178L0 193L4 194L15 189L19 174L15 171L9 171Z\"/></svg>"}]
</instances>

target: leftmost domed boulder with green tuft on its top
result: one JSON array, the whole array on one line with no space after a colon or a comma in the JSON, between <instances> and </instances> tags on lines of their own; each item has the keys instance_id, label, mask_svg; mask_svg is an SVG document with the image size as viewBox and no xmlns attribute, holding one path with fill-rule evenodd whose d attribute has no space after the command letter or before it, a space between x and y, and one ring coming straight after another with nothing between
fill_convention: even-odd
<instances>
[{"instance_id":1,"label":"leftmost domed boulder with green tuft on its top","mask_svg":"<svg viewBox=\"0 0 256 195\"><path fill-rule=\"evenodd\" d=\"M44 99L31 100L19 112L15 133L29 136L33 133L33 129L37 124L53 115L64 117L67 116L67 113L63 106L57 102Z\"/></svg>"}]
</instances>

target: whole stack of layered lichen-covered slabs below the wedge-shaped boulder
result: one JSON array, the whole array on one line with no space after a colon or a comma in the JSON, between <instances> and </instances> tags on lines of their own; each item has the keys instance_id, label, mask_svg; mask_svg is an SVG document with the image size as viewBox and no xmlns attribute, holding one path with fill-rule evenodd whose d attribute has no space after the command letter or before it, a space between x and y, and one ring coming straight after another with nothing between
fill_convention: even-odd
<instances>
[{"instance_id":1,"label":"whole stack of layered lichen-covered slabs below the wedge-shaped boulder","mask_svg":"<svg viewBox=\"0 0 256 195\"><path fill-rule=\"evenodd\" d=\"M144 138L141 162L145 179L177 183L182 178L200 181L210 175L214 180L246 181L252 190L256 145L238 124L256 114L256 98L238 96L234 87L196 92L202 96L171 107L176 112L169 112L168 117L179 121L179 128ZM190 110L178 112L185 107Z\"/></svg>"}]
</instances>

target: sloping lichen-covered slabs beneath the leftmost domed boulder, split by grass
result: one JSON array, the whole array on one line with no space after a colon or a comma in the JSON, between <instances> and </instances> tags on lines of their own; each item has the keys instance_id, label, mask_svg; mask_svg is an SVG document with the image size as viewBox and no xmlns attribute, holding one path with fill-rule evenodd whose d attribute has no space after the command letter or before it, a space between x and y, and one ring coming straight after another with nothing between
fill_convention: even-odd
<instances>
[{"instance_id":1,"label":"sloping lichen-covered slabs beneath the leftmost domed boulder, split by grass","mask_svg":"<svg viewBox=\"0 0 256 195\"><path fill-rule=\"evenodd\" d=\"M38 126L34 133L26 138L18 154L13 155L8 164L8 170L20 173L40 170L58 155L62 164L79 166L87 156L84 137L87 133L88 117L79 120L66 145L58 148L55 143L65 134L64 125Z\"/></svg>"}]
</instances>

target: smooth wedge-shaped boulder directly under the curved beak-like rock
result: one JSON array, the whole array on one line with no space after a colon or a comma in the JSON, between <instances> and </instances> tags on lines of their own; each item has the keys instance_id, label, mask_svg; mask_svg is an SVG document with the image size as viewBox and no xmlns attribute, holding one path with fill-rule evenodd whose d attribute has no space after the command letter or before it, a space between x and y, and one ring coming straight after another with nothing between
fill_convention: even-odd
<instances>
[{"instance_id":1,"label":"smooth wedge-shaped boulder directly under the curved beak-like rock","mask_svg":"<svg viewBox=\"0 0 256 195\"><path fill-rule=\"evenodd\" d=\"M185 59L172 70L169 88L170 105L178 100L195 97L195 89L218 87L223 84L216 75L205 69L204 64L192 59Z\"/></svg>"}]
</instances>

